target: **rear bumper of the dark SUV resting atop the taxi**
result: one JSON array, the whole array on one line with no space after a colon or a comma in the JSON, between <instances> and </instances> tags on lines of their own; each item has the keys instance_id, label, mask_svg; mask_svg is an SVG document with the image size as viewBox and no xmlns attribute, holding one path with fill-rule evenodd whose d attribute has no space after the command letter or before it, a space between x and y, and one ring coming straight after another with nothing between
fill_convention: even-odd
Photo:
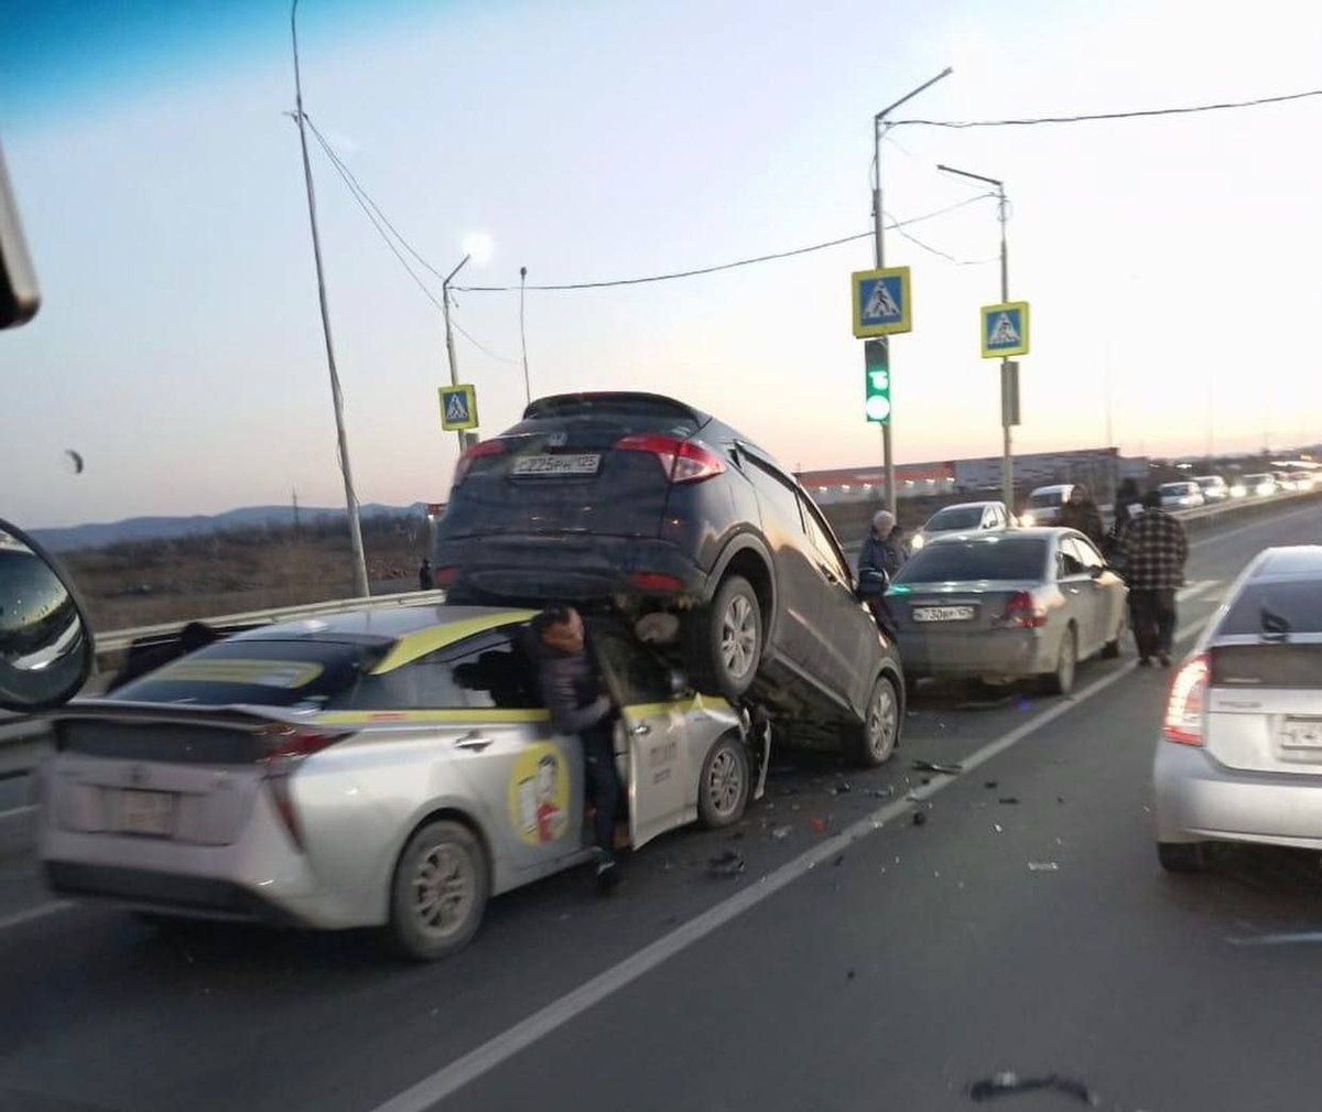
<instances>
[{"instance_id":1,"label":"rear bumper of the dark SUV resting atop the taxi","mask_svg":"<svg viewBox=\"0 0 1322 1112\"><path fill-rule=\"evenodd\" d=\"M709 575L669 541L640 537L501 534L440 539L432 555L438 583L459 569L452 595L517 599L604 599L615 595L702 602ZM633 575L669 576L673 590L644 587Z\"/></svg>"}]
</instances>

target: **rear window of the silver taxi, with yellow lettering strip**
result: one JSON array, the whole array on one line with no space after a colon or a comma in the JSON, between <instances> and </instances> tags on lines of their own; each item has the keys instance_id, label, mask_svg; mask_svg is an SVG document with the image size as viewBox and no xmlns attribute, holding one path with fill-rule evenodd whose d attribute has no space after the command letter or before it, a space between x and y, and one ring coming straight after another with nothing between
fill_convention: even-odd
<instances>
[{"instance_id":1,"label":"rear window of the silver taxi, with yellow lettering strip","mask_svg":"<svg viewBox=\"0 0 1322 1112\"><path fill-rule=\"evenodd\" d=\"M390 643L219 641L126 684L110 698L200 706L295 706L329 699L358 681Z\"/></svg>"}]
</instances>

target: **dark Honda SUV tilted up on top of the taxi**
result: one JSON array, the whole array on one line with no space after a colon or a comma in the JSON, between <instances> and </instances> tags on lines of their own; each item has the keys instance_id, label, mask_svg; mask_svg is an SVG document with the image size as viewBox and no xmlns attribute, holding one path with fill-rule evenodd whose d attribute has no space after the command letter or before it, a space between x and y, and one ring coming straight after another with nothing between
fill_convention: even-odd
<instances>
[{"instance_id":1,"label":"dark Honda SUV tilted up on top of the taxi","mask_svg":"<svg viewBox=\"0 0 1322 1112\"><path fill-rule=\"evenodd\" d=\"M899 658L821 510L767 452L682 402L533 402L464 454L432 563L453 602L676 615L652 629L674 627L699 689L747 693L798 740L843 736L879 763L899 736Z\"/></svg>"}]
</instances>

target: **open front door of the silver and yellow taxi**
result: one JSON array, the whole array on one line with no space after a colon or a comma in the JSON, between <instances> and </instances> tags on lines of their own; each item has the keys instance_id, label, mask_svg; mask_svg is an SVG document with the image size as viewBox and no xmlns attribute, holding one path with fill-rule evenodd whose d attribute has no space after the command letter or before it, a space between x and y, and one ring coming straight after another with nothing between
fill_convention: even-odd
<instances>
[{"instance_id":1,"label":"open front door of the silver and yellow taxi","mask_svg":"<svg viewBox=\"0 0 1322 1112\"><path fill-rule=\"evenodd\" d=\"M670 686L670 669L646 645L611 625L591 627L591 644L624 722L616 750L629 804L629 844L639 846L682 826L695 814L685 744L685 699ZM623 754L621 754L623 751Z\"/></svg>"}]
</instances>

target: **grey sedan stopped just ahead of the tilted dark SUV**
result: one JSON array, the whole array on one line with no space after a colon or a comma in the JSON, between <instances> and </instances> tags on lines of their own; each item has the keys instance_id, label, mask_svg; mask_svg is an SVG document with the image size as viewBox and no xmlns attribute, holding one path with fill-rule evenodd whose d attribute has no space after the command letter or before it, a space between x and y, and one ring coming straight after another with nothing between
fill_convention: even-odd
<instances>
[{"instance_id":1,"label":"grey sedan stopped just ahead of the tilted dark SUV","mask_svg":"<svg viewBox=\"0 0 1322 1112\"><path fill-rule=\"evenodd\" d=\"M911 680L1039 677L1064 694L1080 660L1120 655L1128 594L1087 537L1056 528L939 537L886 600Z\"/></svg>"}]
</instances>

